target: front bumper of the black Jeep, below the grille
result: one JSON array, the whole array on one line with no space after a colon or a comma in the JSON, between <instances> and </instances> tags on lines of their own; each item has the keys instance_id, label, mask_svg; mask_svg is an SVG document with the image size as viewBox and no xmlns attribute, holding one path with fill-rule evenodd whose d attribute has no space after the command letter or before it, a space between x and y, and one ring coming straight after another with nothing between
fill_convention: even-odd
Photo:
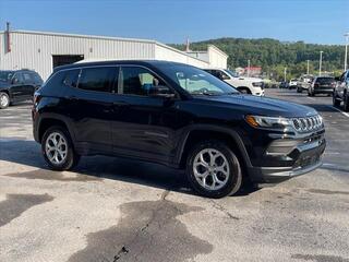
<instances>
[{"instance_id":1,"label":"front bumper of the black Jeep, below the grille","mask_svg":"<svg viewBox=\"0 0 349 262\"><path fill-rule=\"evenodd\" d=\"M312 142L299 143L286 153L272 156L273 160L266 163L273 164L273 166L250 167L250 179L257 183L281 182L316 169L322 165L326 140L323 134L312 138L316 139ZM308 140L309 138L302 141ZM280 150L280 152L282 151L285 148Z\"/></svg>"}]
</instances>

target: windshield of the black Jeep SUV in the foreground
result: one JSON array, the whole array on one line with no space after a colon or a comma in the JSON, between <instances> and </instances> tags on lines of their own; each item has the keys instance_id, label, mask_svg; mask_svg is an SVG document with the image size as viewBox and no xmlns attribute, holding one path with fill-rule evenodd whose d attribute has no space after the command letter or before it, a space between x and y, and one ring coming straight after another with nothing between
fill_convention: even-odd
<instances>
[{"instance_id":1,"label":"windshield of the black Jeep SUV in the foreground","mask_svg":"<svg viewBox=\"0 0 349 262\"><path fill-rule=\"evenodd\" d=\"M166 74L192 95L239 94L229 84L194 67L171 64Z\"/></svg>"}]
</instances>

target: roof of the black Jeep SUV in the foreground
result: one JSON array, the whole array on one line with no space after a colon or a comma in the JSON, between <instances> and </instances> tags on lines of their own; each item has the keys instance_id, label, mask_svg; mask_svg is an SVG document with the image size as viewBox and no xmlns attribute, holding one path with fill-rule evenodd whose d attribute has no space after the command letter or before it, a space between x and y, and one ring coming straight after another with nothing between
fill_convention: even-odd
<instances>
[{"instance_id":1,"label":"roof of the black Jeep SUV in the foreground","mask_svg":"<svg viewBox=\"0 0 349 262\"><path fill-rule=\"evenodd\" d=\"M95 61L95 62L79 62L71 63L61 67L55 68L53 72L63 70L63 69L74 69L74 68L84 68L84 67L97 67L97 66L113 66L113 64L141 64L141 66L188 66L185 63L172 62L172 61L163 61L163 60L106 60L106 61Z\"/></svg>"}]
</instances>

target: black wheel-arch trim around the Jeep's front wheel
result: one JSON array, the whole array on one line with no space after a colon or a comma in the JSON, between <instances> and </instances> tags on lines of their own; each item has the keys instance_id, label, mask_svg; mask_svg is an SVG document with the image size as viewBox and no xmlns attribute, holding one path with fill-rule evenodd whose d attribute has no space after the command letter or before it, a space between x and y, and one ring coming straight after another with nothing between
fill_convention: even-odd
<instances>
[{"instance_id":1,"label":"black wheel-arch trim around the Jeep's front wheel","mask_svg":"<svg viewBox=\"0 0 349 262\"><path fill-rule=\"evenodd\" d=\"M242 154L243 162L246 165L246 167L252 167L246 148L245 148L239 133L236 130L233 130L230 127L205 124L205 123L191 124L183 130L182 135L179 141L179 147L178 147L178 151L177 151L177 153L174 155L174 159L173 159L176 165L180 164L181 157L183 155L184 147L186 144L186 140L188 140L190 133L193 131L215 131L215 132L220 132L220 133L225 133L225 134L230 135L232 138L232 140L236 142L236 144L238 145L238 150Z\"/></svg>"}]
</instances>

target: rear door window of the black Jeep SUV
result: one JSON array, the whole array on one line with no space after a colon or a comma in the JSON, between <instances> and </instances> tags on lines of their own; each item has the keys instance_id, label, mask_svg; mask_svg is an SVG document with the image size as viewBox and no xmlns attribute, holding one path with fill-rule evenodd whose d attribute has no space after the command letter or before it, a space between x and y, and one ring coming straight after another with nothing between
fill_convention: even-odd
<instances>
[{"instance_id":1,"label":"rear door window of the black Jeep SUV","mask_svg":"<svg viewBox=\"0 0 349 262\"><path fill-rule=\"evenodd\" d=\"M117 68L87 68L83 69L79 88L97 92L111 92L112 84L117 78Z\"/></svg>"}]
</instances>

